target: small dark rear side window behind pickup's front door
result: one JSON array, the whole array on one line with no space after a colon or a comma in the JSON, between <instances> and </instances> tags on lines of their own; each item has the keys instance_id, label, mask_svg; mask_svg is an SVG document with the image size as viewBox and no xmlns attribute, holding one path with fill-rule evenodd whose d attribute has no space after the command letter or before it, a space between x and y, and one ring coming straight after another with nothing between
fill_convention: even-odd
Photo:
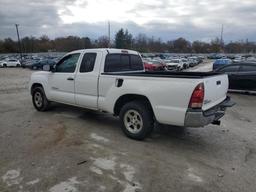
<instances>
[{"instance_id":1,"label":"small dark rear side window behind pickup's front door","mask_svg":"<svg viewBox=\"0 0 256 192\"><path fill-rule=\"evenodd\" d=\"M85 72L93 71L96 56L97 56L96 53L86 53L86 54L84 54L79 72L80 73L85 73Z\"/></svg>"}]
</instances>

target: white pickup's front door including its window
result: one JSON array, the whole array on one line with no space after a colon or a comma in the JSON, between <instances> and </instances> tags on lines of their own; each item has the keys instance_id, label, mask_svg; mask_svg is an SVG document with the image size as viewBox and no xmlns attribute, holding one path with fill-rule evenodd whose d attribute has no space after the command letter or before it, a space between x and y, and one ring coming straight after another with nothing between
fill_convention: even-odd
<instances>
[{"instance_id":1,"label":"white pickup's front door including its window","mask_svg":"<svg viewBox=\"0 0 256 192\"><path fill-rule=\"evenodd\" d=\"M49 75L49 99L76 104L74 92L74 79L80 60L80 53L70 54L60 60Z\"/></svg>"}]
</instances>

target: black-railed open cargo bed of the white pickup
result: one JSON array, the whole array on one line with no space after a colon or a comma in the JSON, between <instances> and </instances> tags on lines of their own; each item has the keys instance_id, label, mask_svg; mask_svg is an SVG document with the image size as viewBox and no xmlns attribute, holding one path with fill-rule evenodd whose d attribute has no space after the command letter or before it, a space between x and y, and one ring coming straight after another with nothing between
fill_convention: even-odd
<instances>
[{"instance_id":1,"label":"black-railed open cargo bed of the white pickup","mask_svg":"<svg viewBox=\"0 0 256 192\"><path fill-rule=\"evenodd\" d=\"M223 75L214 72L179 72L179 71L145 71L145 72L104 72L102 75L116 76L144 76L144 77L164 77L164 78L208 78Z\"/></svg>"}]
</instances>

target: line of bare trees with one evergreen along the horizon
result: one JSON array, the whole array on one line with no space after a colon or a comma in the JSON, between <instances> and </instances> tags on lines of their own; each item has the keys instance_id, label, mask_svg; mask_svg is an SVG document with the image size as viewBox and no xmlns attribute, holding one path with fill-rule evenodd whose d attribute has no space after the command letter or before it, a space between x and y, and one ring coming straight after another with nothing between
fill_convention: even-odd
<instances>
[{"instance_id":1,"label":"line of bare trees with one evergreen along the horizon","mask_svg":"<svg viewBox=\"0 0 256 192\"><path fill-rule=\"evenodd\" d=\"M218 53L220 52L220 45L224 53L248 53L255 49L255 46L250 43L241 41L232 42L231 50L230 43L224 44L224 40L216 37L210 43L195 40L190 42L185 38L177 38L163 42L161 38L155 36L148 36L146 33L139 33L133 36L128 29L121 28L114 36L113 40L109 41L108 36L100 36L97 39L89 37L67 36L56 37L50 39L46 34L40 37L25 36L20 39L22 53L33 52L47 52L53 50L56 52L71 52L74 50L88 49L88 48L119 48L136 50L138 52L176 52L176 53ZM15 53L19 52L19 45L17 40L12 38L4 38L0 40L0 52Z\"/></svg>"}]
</instances>

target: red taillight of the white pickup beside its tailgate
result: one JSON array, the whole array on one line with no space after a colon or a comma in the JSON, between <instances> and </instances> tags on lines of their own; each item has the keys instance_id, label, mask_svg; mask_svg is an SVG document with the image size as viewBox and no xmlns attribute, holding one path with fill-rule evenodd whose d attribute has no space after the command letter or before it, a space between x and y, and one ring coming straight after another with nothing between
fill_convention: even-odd
<instances>
[{"instance_id":1,"label":"red taillight of the white pickup beside its tailgate","mask_svg":"<svg viewBox=\"0 0 256 192\"><path fill-rule=\"evenodd\" d=\"M204 102L204 83L200 83L194 89L188 107L201 108Z\"/></svg>"}]
</instances>

